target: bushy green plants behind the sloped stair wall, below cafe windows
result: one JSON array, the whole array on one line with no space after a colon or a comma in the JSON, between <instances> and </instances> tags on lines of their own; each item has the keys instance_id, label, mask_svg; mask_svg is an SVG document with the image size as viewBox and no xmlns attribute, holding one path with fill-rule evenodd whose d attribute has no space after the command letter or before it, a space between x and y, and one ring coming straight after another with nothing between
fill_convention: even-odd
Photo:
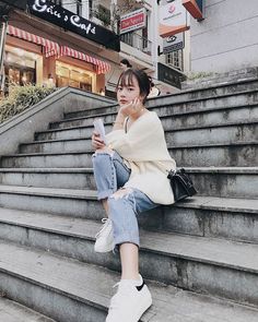
<instances>
[{"instance_id":1,"label":"bushy green plants behind the sloped stair wall, below cafe windows","mask_svg":"<svg viewBox=\"0 0 258 322\"><path fill-rule=\"evenodd\" d=\"M0 123L19 115L55 92L56 88L40 85L10 85L10 94L0 98Z\"/></svg>"}]
</instances>

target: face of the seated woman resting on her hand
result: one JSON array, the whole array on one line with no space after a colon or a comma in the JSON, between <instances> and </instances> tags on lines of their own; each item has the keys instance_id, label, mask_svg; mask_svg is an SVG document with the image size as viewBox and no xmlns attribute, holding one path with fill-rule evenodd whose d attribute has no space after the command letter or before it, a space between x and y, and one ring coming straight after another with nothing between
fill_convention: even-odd
<instances>
[{"instance_id":1,"label":"face of the seated woman resting on her hand","mask_svg":"<svg viewBox=\"0 0 258 322\"><path fill-rule=\"evenodd\" d=\"M127 79L126 84L119 84L117 87L117 100L120 106L127 105L131 103L134 98L139 98L141 102L143 100L142 96L140 96L140 87L137 81L137 77L132 75L131 82Z\"/></svg>"}]
</instances>

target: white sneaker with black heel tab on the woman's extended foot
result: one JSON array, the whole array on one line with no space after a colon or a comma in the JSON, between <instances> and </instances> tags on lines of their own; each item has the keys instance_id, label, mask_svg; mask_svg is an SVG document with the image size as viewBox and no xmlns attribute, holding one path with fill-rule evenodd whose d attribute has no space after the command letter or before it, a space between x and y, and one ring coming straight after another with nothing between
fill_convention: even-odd
<instances>
[{"instance_id":1,"label":"white sneaker with black heel tab on the woman's extended foot","mask_svg":"<svg viewBox=\"0 0 258 322\"><path fill-rule=\"evenodd\" d=\"M152 305L149 288L143 281L141 286L134 286L132 281L127 279L117 285L118 290L112 298L106 322L138 322Z\"/></svg>"}]
</instances>

